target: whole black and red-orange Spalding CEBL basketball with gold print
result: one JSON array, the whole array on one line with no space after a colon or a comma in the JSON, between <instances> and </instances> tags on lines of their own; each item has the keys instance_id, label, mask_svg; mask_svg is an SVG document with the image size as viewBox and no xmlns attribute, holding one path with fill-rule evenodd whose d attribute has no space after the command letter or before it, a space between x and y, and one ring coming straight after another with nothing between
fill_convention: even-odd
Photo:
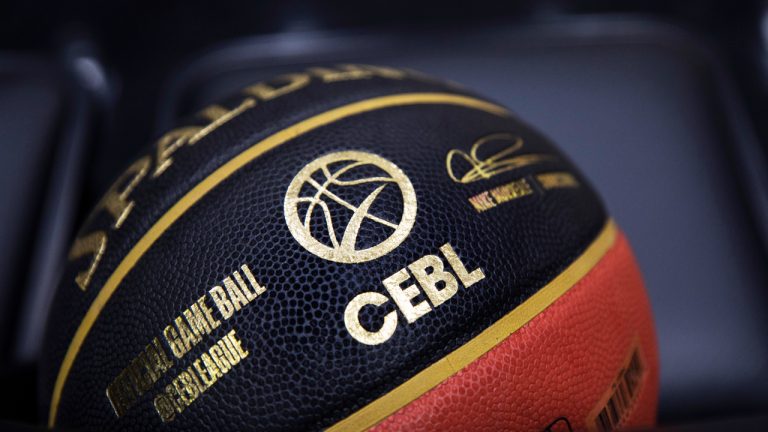
<instances>
[{"instance_id":1,"label":"whole black and red-orange Spalding CEBL basketball with gold print","mask_svg":"<svg viewBox=\"0 0 768 432\"><path fill-rule=\"evenodd\" d=\"M157 137L68 251L48 425L652 426L628 240L510 108L409 69L318 66Z\"/></svg>"}]
</instances>

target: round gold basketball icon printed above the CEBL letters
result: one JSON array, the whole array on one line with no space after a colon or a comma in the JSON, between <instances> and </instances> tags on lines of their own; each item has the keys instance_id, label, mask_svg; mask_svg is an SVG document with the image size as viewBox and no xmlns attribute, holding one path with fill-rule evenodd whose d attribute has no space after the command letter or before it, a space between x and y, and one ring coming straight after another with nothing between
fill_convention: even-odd
<instances>
[{"instance_id":1,"label":"round gold basketball icon printed above the CEBL letters","mask_svg":"<svg viewBox=\"0 0 768 432\"><path fill-rule=\"evenodd\" d=\"M392 162L343 151L315 159L296 174L284 211L291 234L306 250L329 261L360 263L386 255L408 237L416 192Z\"/></svg>"}]
</instances>

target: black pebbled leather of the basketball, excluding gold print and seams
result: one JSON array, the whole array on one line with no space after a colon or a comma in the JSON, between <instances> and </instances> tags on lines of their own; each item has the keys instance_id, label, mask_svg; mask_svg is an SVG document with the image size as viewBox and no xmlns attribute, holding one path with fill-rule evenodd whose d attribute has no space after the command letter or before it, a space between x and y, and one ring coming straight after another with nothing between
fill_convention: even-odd
<instances>
[{"instance_id":1,"label":"black pebbled leather of the basketball, excluding gold print and seams","mask_svg":"<svg viewBox=\"0 0 768 432\"><path fill-rule=\"evenodd\" d=\"M84 236L102 230L108 241L85 291L75 284L75 276L88 268L90 255L72 260L63 274L43 356L41 405L50 404L49 395L70 343L107 280L185 194L255 144L297 122L350 103L417 92L471 95L420 75L331 82L313 77L307 86L259 101L194 145L180 148L173 154L172 165L157 177L151 175L157 150L148 148L150 174L131 191L135 205L122 225L115 228L114 218L97 209L80 232ZM235 95L221 107L232 110L242 100L243 95ZM191 122L208 124L202 116ZM552 157L469 184L450 179L446 172L450 150L469 152L478 139L499 132L523 139L520 154ZM302 168L324 155L351 150L378 155L402 170L415 190L417 212L413 228L391 252L345 264L302 247L289 231L283 209L289 184ZM375 170L370 169L364 167L369 170L364 173L373 176ZM578 187L545 190L535 183L537 174L564 171L574 176ZM484 212L468 201L523 178L533 184L530 195ZM345 189L338 193L356 204L371 193L370 187ZM401 194L389 187L382 190L371 212L397 220L402 206ZM335 210L334 220L343 227L348 220L335 216L343 215L342 210ZM61 390L55 424L89 430L330 427L515 309L573 262L606 220L588 181L545 137L513 116L440 103L348 116L266 151L167 227L127 270L84 336ZM318 212L313 226L322 223ZM320 231L313 233L323 238ZM380 226L363 224L357 247L373 246L384 236ZM445 243L453 246L468 270L482 268L485 279L470 289L461 287L413 323L407 323L392 300L380 308L368 306L360 314L363 327L376 329L384 314L397 311L396 331L386 342L373 346L351 337L344 311L352 298L366 291L387 295L383 279L425 255L439 255ZM207 298L221 325L181 359L171 356L164 328L212 287L223 286L222 280L243 264L266 291L228 320L218 315ZM408 283L413 282L411 277ZM413 304L424 299L421 293ZM154 398L233 329L248 357L173 421L163 423ZM173 365L118 418L106 389L156 337Z\"/></svg>"}]
</instances>

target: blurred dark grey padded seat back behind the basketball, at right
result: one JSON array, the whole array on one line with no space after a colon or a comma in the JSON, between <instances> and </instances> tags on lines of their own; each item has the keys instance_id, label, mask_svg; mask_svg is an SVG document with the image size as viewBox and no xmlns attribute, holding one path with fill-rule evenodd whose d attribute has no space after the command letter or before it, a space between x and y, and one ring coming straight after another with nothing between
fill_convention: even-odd
<instances>
[{"instance_id":1,"label":"blurred dark grey padded seat back behind the basketball, at right","mask_svg":"<svg viewBox=\"0 0 768 432\"><path fill-rule=\"evenodd\" d=\"M765 256L744 192L753 143L738 100L690 35L586 21L453 36L287 35L219 47L173 78L158 129L222 94L311 62L413 67L464 83L540 128L594 181L644 270L661 355L661 418L768 405ZM751 151L754 149L746 149ZM755 186L755 185L753 185ZM759 189L760 186L757 185ZM754 188L752 189L754 190Z\"/></svg>"}]
</instances>

